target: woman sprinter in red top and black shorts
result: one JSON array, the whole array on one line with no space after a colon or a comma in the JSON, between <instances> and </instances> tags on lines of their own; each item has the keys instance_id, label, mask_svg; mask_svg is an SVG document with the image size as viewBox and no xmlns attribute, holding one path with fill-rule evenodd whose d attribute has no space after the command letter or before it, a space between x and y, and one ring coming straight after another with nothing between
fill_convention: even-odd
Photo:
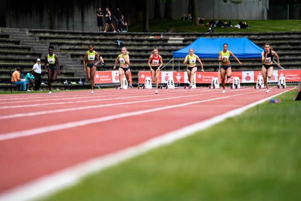
<instances>
[{"instance_id":1,"label":"woman sprinter in red top and black shorts","mask_svg":"<svg viewBox=\"0 0 301 201\"><path fill-rule=\"evenodd\" d=\"M158 94L160 68L163 65L162 56L160 56L158 53L159 50L157 49L157 47L155 47L153 54L149 56L147 62L150 68L150 74L152 75L152 80L153 82L156 82L156 94Z\"/></svg>"}]
</instances>

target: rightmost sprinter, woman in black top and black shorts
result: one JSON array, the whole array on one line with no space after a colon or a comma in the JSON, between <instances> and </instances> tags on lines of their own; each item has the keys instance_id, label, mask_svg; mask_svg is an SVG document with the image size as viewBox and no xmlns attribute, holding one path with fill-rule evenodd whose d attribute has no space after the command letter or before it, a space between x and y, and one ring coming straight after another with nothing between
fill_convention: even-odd
<instances>
[{"instance_id":1,"label":"rightmost sprinter, woman in black top and black shorts","mask_svg":"<svg viewBox=\"0 0 301 201\"><path fill-rule=\"evenodd\" d=\"M276 56L277 58L277 65L280 66L279 63L279 56L273 49L271 48L270 44L266 43L264 45L264 51L261 52L261 61L262 61L262 77L264 84L266 86L266 93L269 92L269 87L267 84L267 77L271 78L273 75L273 56Z\"/></svg>"}]
</instances>

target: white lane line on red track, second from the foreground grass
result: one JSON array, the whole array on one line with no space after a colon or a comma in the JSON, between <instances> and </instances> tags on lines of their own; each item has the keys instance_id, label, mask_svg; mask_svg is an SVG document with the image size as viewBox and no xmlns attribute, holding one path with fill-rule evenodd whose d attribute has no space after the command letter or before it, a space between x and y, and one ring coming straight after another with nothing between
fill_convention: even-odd
<instances>
[{"instance_id":1,"label":"white lane line on red track, second from the foreground grass","mask_svg":"<svg viewBox=\"0 0 301 201\"><path fill-rule=\"evenodd\" d=\"M255 92L257 92L257 91L255 91ZM52 126L39 127L39 128L35 128L35 129L3 133L0 135L0 141L10 140L10 139L14 139L14 138L21 138L21 137L26 137L26 136L32 136L32 135L38 135L38 134L47 133L47 132L59 131L59 130L63 130L63 129L74 128L77 126L86 126L89 124L95 124L95 123L105 122L105 121L109 121L109 120L120 119L120 118L124 118L124 117L142 115L142 114L146 114L146 113L153 113L153 112L172 109L172 108L179 108L179 107L183 107L183 106L210 102L212 100L224 99L224 98L228 98L228 97L234 97L234 96L238 96L238 95L244 95L244 94L255 93L255 92L239 93L239 94L235 94L235 95L217 97L217 98L206 99L206 100L198 100L195 102L188 102L188 103L184 103L184 104L164 106L164 107L159 107L159 108L153 108L153 109L147 109L147 110L141 110L141 111L135 111L135 112L128 112L128 113L121 113L121 114L117 114L117 115L110 115L110 116L106 116L106 117L93 118L93 119L81 120L81 121L76 121L76 122L68 122L68 123L56 124L56 125L52 125ZM185 96L185 97L187 97L187 96ZM171 98L167 98L167 99L171 99Z\"/></svg>"}]
</instances>

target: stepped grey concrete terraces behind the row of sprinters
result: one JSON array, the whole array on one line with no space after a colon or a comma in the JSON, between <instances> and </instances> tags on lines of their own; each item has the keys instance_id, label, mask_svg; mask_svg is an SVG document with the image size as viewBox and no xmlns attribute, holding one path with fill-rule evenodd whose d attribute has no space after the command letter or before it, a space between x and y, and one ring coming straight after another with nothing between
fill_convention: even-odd
<instances>
[{"instance_id":1,"label":"stepped grey concrete terraces behind the row of sprinters","mask_svg":"<svg viewBox=\"0 0 301 201\"><path fill-rule=\"evenodd\" d=\"M172 59L173 51L181 49L199 37L247 37L259 47L270 43L280 57L281 66L286 69L301 69L301 33L99 33L80 31L58 30L28 30L0 28L0 87L1 90L7 83L10 68L23 67L24 72L29 72L36 59L41 59L44 68L44 58L48 54L48 46L55 47L54 53L58 55L61 65L61 75L54 88L76 89L83 88L80 84L62 84L78 82L85 79L82 59L88 44L94 45L94 50L99 52L105 61L105 70L112 70L115 59L120 54L120 48L115 42L120 40L129 51L130 69L133 83L137 83L137 72L149 70L147 60L154 47L159 48L164 64ZM176 40L179 39L179 40ZM229 47L231 50L231 47ZM213 71L218 67L217 59L202 59L205 71ZM180 62L179 62L180 61ZM261 70L260 59L240 59L243 66L236 61L232 62L232 70ZM178 65L180 63L180 66ZM183 59L174 60L174 68L170 62L164 70L185 70ZM277 69L275 67L275 69ZM43 82L47 83L47 74L42 74ZM85 84L89 87L89 83ZM43 86L47 90L47 85Z\"/></svg>"}]
</instances>

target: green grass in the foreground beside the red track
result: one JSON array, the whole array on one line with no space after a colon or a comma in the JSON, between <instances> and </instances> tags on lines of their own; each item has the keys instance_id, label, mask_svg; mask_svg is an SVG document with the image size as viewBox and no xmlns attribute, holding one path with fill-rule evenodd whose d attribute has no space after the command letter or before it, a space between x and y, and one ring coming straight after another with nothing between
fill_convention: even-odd
<instances>
[{"instance_id":1,"label":"green grass in the foreground beside the red track","mask_svg":"<svg viewBox=\"0 0 301 201\"><path fill-rule=\"evenodd\" d=\"M301 101L292 100L295 94L41 200L300 200Z\"/></svg>"}]
</instances>

